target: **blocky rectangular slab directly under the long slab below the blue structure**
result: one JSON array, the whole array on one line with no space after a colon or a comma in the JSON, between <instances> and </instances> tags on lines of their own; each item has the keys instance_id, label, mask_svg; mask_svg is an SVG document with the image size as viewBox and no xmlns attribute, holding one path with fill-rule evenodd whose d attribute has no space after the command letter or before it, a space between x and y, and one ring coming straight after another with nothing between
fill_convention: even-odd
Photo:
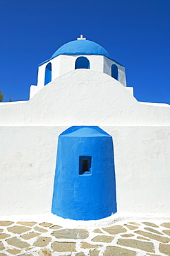
<instances>
[{"instance_id":1,"label":"blocky rectangular slab directly under the long slab below the blue structure","mask_svg":"<svg viewBox=\"0 0 170 256\"><path fill-rule=\"evenodd\" d=\"M52 250L54 252L76 252L76 243L54 241Z\"/></svg>"}]
</instances>

